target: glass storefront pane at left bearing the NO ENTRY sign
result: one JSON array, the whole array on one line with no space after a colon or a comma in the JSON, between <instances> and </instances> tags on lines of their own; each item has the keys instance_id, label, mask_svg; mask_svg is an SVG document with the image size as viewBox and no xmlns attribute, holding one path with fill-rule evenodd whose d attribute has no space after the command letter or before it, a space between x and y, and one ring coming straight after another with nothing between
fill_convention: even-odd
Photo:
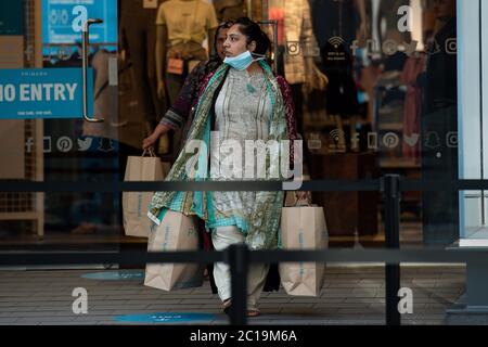
<instances>
[{"instance_id":1,"label":"glass storefront pane at left bearing the NO ENTRY sign","mask_svg":"<svg viewBox=\"0 0 488 347\"><path fill-rule=\"evenodd\" d=\"M117 1L25 0L2 7L2 15L11 20L2 17L0 35L0 156L9 163L2 165L0 177L80 184L118 181ZM89 17L103 23L90 27L86 48L88 114L106 117L104 124L89 124L81 117L82 33ZM7 94L8 90L14 94ZM0 195L3 247L118 247L121 206L117 195Z\"/></svg>"}]
</instances>

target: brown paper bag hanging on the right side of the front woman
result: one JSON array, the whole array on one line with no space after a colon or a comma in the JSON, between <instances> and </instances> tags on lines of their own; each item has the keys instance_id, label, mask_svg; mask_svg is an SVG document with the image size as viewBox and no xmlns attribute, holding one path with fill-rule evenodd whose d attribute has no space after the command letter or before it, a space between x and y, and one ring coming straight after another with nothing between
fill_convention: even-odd
<instances>
[{"instance_id":1,"label":"brown paper bag hanging on the right side of the front woman","mask_svg":"<svg viewBox=\"0 0 488 347\"><path fill-rule=\"evenodd\" d=\"M329 234L322 207L284 207L281 217L283 249L325 249ZM281 284L288 295L319 296L325 264L282 262Z\"/></svg>"}]
</instances>

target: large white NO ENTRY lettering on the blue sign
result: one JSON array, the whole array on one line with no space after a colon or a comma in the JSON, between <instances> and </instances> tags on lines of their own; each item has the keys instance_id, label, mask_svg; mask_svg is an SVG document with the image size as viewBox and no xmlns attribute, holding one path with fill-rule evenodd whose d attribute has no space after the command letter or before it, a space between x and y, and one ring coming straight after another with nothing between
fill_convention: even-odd
<instances>
[{"instance_id":1,"label":"large white NO ENTRY lettering on the blue sign","mask_svg":"<svg viewBox=\"0 0 488 347\"><path fill-rule=\"evenodd\" d=\"M0 102L74 101L78 83L0 85Z\"/></svg>"}]
</instances>

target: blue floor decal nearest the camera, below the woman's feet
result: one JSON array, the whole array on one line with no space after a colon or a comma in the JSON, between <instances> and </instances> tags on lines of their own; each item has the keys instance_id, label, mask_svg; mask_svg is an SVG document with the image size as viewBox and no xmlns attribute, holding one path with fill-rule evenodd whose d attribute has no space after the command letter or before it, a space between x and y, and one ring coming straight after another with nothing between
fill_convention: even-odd
<instances>
[{"instance_id":1,"label":"blue floor decal nearest the camera, below the woman's feet","mask_svg":"<svg viewBox=\"0 0 488 347\"><path fill-rule=\"evenodd\" d=\"M210 322L216 314L192 312L162 312L145 314L125 314L115 317L115 321L124 323L193 323Z\"/></svg>"}]
</instances>

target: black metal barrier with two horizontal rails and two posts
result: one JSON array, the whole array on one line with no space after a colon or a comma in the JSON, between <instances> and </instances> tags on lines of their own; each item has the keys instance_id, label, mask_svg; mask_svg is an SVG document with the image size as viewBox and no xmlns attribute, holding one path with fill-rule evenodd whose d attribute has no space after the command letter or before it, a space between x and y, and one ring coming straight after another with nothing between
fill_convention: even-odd
<instances>
[{"instance_id":1,"label":"black metal barrier with two horizontal rails and two posts","mask_svg":"<svg viewBox=\"0 0 488 347\"><path fill-rule=\"evenodd\" d=\"M76 183L76 184L74 184ZM297 261L384 262L386 324L401 324L398 311L401 262L476 261L488 256L488 249L449 252L446 249L400 249L400 201L406 191L488 190L488 180L416 181L397 175L363 181L306 181L300 190L321 192L377 191L384 196L385 240L387 249L324 249L324 250L253 250L246 245L232 245L223 252L98 252L98 253L0 253L0 266L89 265L89 264L164 264L164 262L227 262L231 269L231 324L244 325L249 264ZM281 182L24 182L0 181L0 192L140 192L140 191L281 191Z\"/></svg>"}]
</instances>

